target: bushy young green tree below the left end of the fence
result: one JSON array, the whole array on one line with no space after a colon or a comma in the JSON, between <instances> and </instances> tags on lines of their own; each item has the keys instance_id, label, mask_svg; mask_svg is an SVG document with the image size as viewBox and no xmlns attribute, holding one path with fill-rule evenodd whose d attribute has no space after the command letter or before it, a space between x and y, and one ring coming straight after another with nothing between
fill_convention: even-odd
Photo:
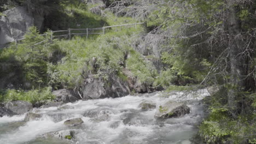
<instances>
[{"instance_id":1,"label":"bushy young green tree below the left end of the fence","mask_svg":"<svg viewBox=\"0 0 256 144\"><path fill-rule=\"evenodd\" d=\"M40 43L45 41L44 43ZM16 59L21 61L25 80L33 86L40 88L47 83L47 64L50 62L50 53L58 51L59 48L49 43L50 35L43 37L39 35L36 27L31 27L25 35L25 40L19 44L13 53Z\"/></svg>"}]
</instances>

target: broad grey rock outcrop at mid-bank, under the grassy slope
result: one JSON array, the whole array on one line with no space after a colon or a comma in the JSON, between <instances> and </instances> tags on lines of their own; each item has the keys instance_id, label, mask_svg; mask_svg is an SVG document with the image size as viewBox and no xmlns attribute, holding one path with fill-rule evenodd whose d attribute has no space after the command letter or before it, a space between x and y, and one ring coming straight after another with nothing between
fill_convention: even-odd
<instances>
[{"instance_id":1,"label":"broad grey rock outcrop at mid-bank, under the grassy slope","mask_svg":"<svg viewBox=\"0 0 256 144\"><path fill-rule=\"evenodd\" d=\"M130 93L127 82L114 74L110 74L108 77L107 81L103 80L102 77L94 78L94 75L85 79L83 99L118 98Z\"/></svg>"}]
</instances>

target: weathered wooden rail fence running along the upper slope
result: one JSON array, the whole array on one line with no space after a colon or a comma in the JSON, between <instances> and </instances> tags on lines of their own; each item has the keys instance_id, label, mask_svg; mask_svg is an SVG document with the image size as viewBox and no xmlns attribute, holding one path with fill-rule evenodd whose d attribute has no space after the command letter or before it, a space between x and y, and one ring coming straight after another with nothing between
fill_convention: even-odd
<instances>
[{"instance_id":1,"label":"weathered wooden rail fence running along the upper slope","mask_svg":"<svg viewBox=\"0 0 256 144\"><path fill-rule=\"evenodd\" d=\"M68 28L67 30L51 31L50 38L51 38L51 41L54 38L63 38L63 37L64 38L68 38L70 40L72 38L72 35L86 35L86 38L88 38L90 34L105 34L106 30L109 29L109 28L113 28L114 27L115 28L115 32L117 32L118 31L118 27L121 30L121 27L135 26L135 28L137 29L137 26L138 25L142 25L142 24L145 25L146 23L139 22L139 23L130 23L130 24L125 24L125 25L99 27L99 28L80 28L80 29ZM79 32L75 33L74 31L79 31ZM58 33L66 33L66 34L57 35ZM46 36L46 34L40 34L40 36ZM23 39L16 39L15 40L16 47L18 46L18 43L20 43L20 41L22 41L24 39L25 38L23 38ZM40 41L39 43L36 43L34 45L42 44L44 41L46 41L46 40Z\"/></svg>"}]
</instances>

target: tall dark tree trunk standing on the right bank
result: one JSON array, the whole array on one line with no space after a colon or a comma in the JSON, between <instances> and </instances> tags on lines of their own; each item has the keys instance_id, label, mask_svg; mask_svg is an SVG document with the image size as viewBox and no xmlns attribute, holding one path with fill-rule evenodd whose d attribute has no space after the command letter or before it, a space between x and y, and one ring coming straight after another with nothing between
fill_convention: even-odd
<instances>
[{"instance_id":1,"label":"tall dark tree trunk standing on the right bank","mask_svg":"<svg viewBox=\"0 0 256 144\"><path fill-rule=\"evenodd\" d=\"M242 52L242 35L240 20L236 14L236 8L232 4L233 0L227 0L228 4L228 33L229 33L229 59L230 59L230 86L228 88L228 105L232 115L236 116L237 103L235 101L237 92L244 87L244 70L242 58L237 57Z\"/></svg>"}]
</instances>

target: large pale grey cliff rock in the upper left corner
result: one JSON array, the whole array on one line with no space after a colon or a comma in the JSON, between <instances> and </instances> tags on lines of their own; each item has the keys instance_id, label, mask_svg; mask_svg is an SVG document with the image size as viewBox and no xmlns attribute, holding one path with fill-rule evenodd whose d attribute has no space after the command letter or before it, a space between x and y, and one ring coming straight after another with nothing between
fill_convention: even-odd
<instances>
[{"instance_id":1,"label":"large pale grey cliff rock in the upper left corner","mask_svg":"<svg viewBox=\"0 0 256 144\"><path fill-rule=\"evenodd\" d=\"M3 12L0 17L0 44L6 44L15 39L21 39L27 29L33 25L42 27L44 17L28 13L26 7L15 7Z\"/></svg>"}]
</instances>

